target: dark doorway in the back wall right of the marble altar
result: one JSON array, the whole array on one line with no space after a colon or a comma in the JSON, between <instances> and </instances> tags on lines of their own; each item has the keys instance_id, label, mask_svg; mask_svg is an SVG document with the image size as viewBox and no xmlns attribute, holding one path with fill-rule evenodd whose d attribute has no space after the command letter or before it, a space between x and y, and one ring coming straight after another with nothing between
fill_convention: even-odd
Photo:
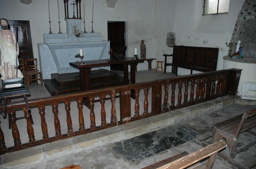
<instances>
[{"instance_id":1,"label":"dark doorway in the back wall right of the marble altar","mask_svg":"<svg viewBox=\"0 0 256 169\"><path fill-rule=\"evenodd\" d=\"M110 49L117 53L125 46L125 22L108 21L108 41L110 41ZM125 52L122 53L125 57ZM111 65L111 70L123 70L123 65Z\"/></svg>"}]
</instances>

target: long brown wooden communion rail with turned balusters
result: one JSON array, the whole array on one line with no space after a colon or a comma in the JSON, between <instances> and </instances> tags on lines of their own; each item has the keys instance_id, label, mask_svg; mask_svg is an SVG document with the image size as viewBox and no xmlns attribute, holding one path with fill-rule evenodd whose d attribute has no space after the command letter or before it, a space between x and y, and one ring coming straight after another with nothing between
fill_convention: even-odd
<instances>
[{"instance_id":1,"label":"long brown wooden communion rail with turned balusters","mask_svg":"<svg viewBox=\"0 0 256 169\"><path fill-rule=\"evenodd\" d=\"M113 127L118 122L119 125L128 123L134 120L142 119L149 116L155 116L164 112L174 109L179 109L187 107L193 104L200 102L209 101L217 97L225 95L235 95L237 91L238 82L240 79L241 69L226 69L220 71L206 72L200 74L192 74L181 77L166 78L162 80L155 80L143 83L135 83L129 85L122 85L110 88L102 88L97 90L89 90L80 93L68 94L68 95L58 95L52 97L45 97L39 99L29 100L28 104L30 108L38 108L39 115L41 117L41 128L42 128L42 139L35 140L34 129L31 124L30 116L31 112L27 109L25 102L10 102L6 106L7 113L10 116L12 123L12 136L14 141L13 147L6 147L4 142L4 133L0 127L0 153L4 154L10 151L16 151L25 149L31 146L40 145L44 143L49 143L52 141L70 138L73 136L90 133L97 130L106 129ZM188 91L188 85L191 82L191 91ZM182 97L182 86L184 84L185 92ZM195 86L197 84L197 86ZM215 85L217 84L217 85ZM175 88L179 89L178 93L178 102L175 105ZM195 86L195 91L194 91ZM164 101L162 102L162 87L164 87ZM143 103L143 112L140 111L139 96L140 90L144 90L144 103ZM151 112L148 112L148 91L151 89ZM131 90L135 91L135 105L134 105L134 116L131 115ZM120 102L120 120L116 119L116 93L119 92L119 102ZM169 92L172 93L171 98L169 98ZM190 97L188 95L190 93ZM105 100L106 96L110 95L111 99L111 119L110 123L106 122L106 110L105 110ZM195 95L195 99L194 99ZM87 97L89 100L90 108L90 124L84 124L84 115L83 115L83 98ZM95 123L95 112L94 112L94 100L95 97L100 97L101 104L101 125L96 126ZM183 102L182 102L183 98ZM73 123L70 116L70 102L76 100L77 102L77 113L78 113L78 122L79 130L73 130ZM171 102L170 107L169 103ZM58 114L58 105L60 103L65 103L66 110L66 123L67 130L63 134L60 129L60 120L58 116L63 114ZM51 105L52 112L54 114L54 127L55 127L55 136L49 137L47 123L45 120L45 106ZM0 107L2 109L2 106ZM20 132L16 124L16 115L15 112L18 110L24 111L24 116L27 121L27 133L28 133L28 143L21 144L20 141ZM34 117L34 116L33 116ZM90 128L85 128L89 126ZM65 131L65 130L64 130ZM25 133L22 133L23 135Z\"/></svg>"}]
</instances>

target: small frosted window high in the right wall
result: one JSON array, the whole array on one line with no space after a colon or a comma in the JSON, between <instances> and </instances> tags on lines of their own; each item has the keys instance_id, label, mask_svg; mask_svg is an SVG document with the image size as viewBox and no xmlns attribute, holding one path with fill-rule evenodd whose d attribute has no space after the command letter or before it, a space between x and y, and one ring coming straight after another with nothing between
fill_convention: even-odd
<instances>
[{"instance_id":1,"label":"small frosted window high in the right wall","mask_svg":"<svg viewBox=\"0 0 256 169\"><path fill-rule=\"evenodd\" d=\"M229 0L204 0L204 15L228 12Z\"/></svg>"}]
</instances>

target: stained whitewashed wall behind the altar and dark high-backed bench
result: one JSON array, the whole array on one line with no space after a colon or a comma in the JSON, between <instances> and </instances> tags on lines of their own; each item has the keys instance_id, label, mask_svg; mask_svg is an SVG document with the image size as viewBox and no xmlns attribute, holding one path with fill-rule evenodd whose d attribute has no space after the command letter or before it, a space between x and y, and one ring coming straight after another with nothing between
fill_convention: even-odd
<instances>
[{"instance_id":1,"label":"stained whitewashed wall behind the altar and dark high-backed bench","mask_svg":"<svg viewBox=\"0 0 256 169\"><path fill-rule=\"evenodd\" d=\"M32 0L31 4L26 5L18 0L0 0L0 18L30 21L35 58L38 58L37 44L43 43L44 33L49 33L47 2L47 0ZM83 2L84 0L82 0L82 8ZM172 48L166 46L166 35L167 32L175 32L177 45L219 47L217 69L222 69L222 57L228 54L225 41L226 38L231 38L243 2L243 0L230 0L228 14L202 16L203 0L117 0L115 8L107 8L105 0L94 0L93 30L101 32L103 40L107 40L107 22L125 21L127 55L134 54L134 47L138 48L140 54L140 42L141 39L145 39L147 58L157 58L157 60L164 60L163 54L172 53ZM59 3L61 31L65 33L63 0L59 0ZM58 33L57 0L50 0L50 4L52 32ZM69 17L72 17L72 12L73 7L69 5ZM83 16L83 11L81 15ZM85 18L86 31L89 32L92 0L85 0ZM155 65L154 61L152 67ZM147 63L138 66L138 70L147 69ZM171 71L171 67L167 70ZM179 68L178 73L189 74L190 71Z\"/></svg>"}]
</instances>

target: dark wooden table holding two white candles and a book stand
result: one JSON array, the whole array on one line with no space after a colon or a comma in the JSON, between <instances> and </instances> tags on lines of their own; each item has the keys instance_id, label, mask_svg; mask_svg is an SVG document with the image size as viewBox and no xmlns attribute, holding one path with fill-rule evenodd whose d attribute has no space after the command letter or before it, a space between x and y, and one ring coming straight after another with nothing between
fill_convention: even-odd
<instances>
[{"instance_id":1,"label":"dark wooden table holding two white candles and a book stand","mask_svg":"<svg viewBox=\"0 0 256 169\"><path fill-rule=\"evenodd\" d=\"M146 59L135 59L132 57L123 58L121 60L88 60L83 61L86 65L79 65L80 62L70 62L69 65L79 69L80 81L81 81L81 91L90 90L90 69L92 67L106 66L106 65L124 65L124 84L129 84L128 78L128 64L131 65L131 84L135 83L135 67L138 63L143 63Z\"/></svg>"}]
</instances>

